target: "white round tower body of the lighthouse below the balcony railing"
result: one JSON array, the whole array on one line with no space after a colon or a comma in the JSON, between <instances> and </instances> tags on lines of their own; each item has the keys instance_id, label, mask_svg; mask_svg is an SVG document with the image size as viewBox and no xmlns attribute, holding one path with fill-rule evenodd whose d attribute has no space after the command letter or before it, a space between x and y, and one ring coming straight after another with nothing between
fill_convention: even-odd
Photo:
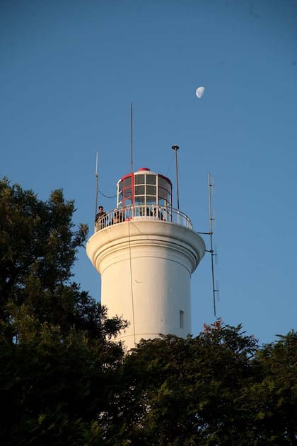
<instances>
[{"instance_id":1,"label":"white round tower body of the lighthouse below the balcony railing","mask_svg":"<svg viewBox=\"0 0 297 446\"><path fill-rule=\"evenodd\" d=\"M127 348L161 333L191 333L190 276L204 252L194 231L163 221L127 221L88 240L88 257L101 274L101 303L110 317L130 322L118 337Z\"/></svg>"}]
</instances>

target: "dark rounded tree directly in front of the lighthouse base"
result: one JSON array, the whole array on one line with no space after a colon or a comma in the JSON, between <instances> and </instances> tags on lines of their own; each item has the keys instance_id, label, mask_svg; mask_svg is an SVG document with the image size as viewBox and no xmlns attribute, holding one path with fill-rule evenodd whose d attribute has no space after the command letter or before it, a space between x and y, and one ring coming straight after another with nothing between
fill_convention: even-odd
<instances>
[{"instance_id":1,"label":"dark rounded tree directly in front of the lighthouse base","mask_svg":"<svg viewBox=\"0 0 297 446\"><path fill-rule=\"evenodd\" d=\"M139 344L124 365L135 412L125 404L120 409L130 444L249 444L241 442L250 416L243 389L252 380L257 344L240 328Z\"/></svg>"}]
</instances>

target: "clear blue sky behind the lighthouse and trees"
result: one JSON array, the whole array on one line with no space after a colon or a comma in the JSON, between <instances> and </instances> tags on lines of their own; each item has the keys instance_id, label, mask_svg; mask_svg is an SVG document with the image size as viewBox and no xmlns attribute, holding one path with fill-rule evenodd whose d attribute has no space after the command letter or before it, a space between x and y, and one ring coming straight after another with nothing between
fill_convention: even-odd
<instances>
[{"instance_id":1,"label":"clear blue sky behind the lighthouse and trees","mask_svg":"<svg viewBox=\"0 0 297 446\"><path fill-rule=\"evenodd\" d=\"M112 196L130 170L133 102L134 170L175 184L178 144L180 209L197 231L209 230L215 178L217 315L274 341L296 329L296 23L295 0L2 0L0 176L40 199L63 188L91 235L96 152ZM100 297L84 250L74 273ZM193 333L214 320L206 253Z\"/></svg>"}]
</instances>

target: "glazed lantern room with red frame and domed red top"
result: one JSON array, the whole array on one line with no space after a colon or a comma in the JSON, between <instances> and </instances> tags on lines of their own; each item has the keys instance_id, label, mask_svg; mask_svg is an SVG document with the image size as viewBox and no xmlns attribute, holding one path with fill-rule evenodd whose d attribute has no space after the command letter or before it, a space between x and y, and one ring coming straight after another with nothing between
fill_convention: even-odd
<instances>
[{"instance_id":1,"label":"glazed lantern room with red frame and domed red top","mask_svg":"<svg viewBox=\"0 0 297 446\"><path fill-rule=\"evenodd\" d=\"M161 206L169 211L172 208L172 183L148 168L125 175L117 182L117 208L129 206Z\"/></svg>"}]
</instances>

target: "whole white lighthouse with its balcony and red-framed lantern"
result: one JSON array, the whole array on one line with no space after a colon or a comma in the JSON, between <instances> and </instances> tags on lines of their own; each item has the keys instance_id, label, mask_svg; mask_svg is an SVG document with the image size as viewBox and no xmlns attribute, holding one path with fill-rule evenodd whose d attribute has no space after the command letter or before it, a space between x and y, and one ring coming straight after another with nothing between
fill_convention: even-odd
<instances>
[{"instance_id":1,"label":"whole white lighthouse with its balcony and red-framed lantern","mask_svg":"<svg viewBox=\"0 0 297 446\"><path fill-rule=\"evenodd\" d=\"M129 321L117 336L128 349L140 339L191 333L190 278L205 245L190 218L173 209L167 177L148 168L122 177L117 207L96 223L86 251L108 317Z\"/></svg>"}]
</instances>

